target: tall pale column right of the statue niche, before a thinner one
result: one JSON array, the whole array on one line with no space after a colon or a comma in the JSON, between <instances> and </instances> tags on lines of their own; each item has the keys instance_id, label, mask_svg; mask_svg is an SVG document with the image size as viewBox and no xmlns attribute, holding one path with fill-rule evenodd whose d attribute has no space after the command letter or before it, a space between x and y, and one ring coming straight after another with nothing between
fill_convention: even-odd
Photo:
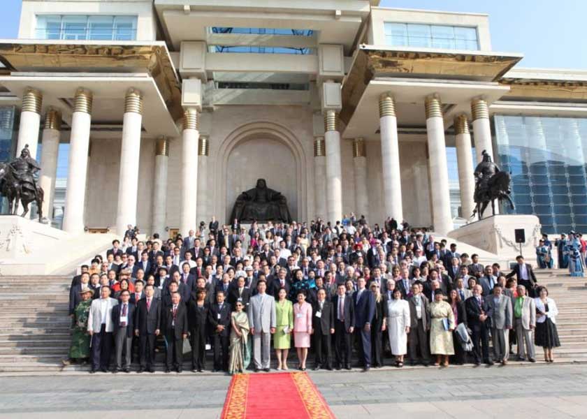
<instances>
[{"instance_id":1,"label":"tall pale column right of the statue niche, before a thinner one","mask_svg":"<svg viewBox=\"0 0 587 419\"><path fill-rule=\"evenodd\" d=\"M324 140L326 141L326 208L334 226L342 221L342 163L340 161L340 133L338 115L334 110L324 113Z\"/></svg>"}]
</instances>

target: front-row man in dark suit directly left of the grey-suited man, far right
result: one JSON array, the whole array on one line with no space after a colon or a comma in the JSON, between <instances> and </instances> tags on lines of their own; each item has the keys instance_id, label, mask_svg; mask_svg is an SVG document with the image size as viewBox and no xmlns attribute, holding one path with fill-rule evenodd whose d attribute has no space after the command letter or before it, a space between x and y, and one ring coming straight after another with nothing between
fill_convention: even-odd
<instances>
[{"instance_id":1,"label":"front-row man in dark suit directly left of the grey-suited man, far right","mask_svg":"<svg viewBox=\"0 0 587 419\"><path fill-rule=\"evenodd\" d=\"M474 362L475 365L481 365L481 355L483 355L483 362L487 365L493 365L493 361L489 358L491 320L487 315L488 304L481 295L483 290L479 284L474 286L472 291L473 296L465 300L465 311L467 312L467 324L471 329Z\"/></svg>"}]
</instances>

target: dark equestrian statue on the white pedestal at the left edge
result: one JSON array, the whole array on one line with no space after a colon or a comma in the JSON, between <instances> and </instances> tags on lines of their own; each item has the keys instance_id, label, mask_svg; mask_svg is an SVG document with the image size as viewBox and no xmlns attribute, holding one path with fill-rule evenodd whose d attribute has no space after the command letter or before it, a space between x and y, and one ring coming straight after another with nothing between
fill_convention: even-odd
<instances>
[{"instance_id":1,"label":"dark equestrian statue on the white pedestal at the left edge","mask_svg":"<svg viewBox=\"0 0 587 419\"><path fill-rule=\"evenodd\" d=\"M22 204L26 216L29 204L37 205L38 221L43 219L43 189L37 185L36 174L41 166L31 157L29 145L25 145L10 163L0 163L0 193L8 199L8 214L17 215L18 204Z\"/></svg>"}]
</instances>

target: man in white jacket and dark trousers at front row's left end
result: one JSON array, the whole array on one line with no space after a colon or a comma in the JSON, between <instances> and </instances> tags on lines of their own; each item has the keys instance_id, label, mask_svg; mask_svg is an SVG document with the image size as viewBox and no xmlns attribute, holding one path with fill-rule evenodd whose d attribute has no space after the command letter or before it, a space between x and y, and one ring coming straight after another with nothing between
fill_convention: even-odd
<instances>
[{"instance_id":1,"label":"man in white jacket and dark trousers at front row's left end","mask_svg":"<svg viewBox=\"0 0 587 419\"><path fill-rule=\"evenodd\" d=\"M87 331L92 336L92 369L90 373L108 372L110 353L112 351L112 309L118 305L118 301L110 298L110 287L105 285L100 288L100 298L92 301L87 318Z\"/></svg>"}]
</instances>

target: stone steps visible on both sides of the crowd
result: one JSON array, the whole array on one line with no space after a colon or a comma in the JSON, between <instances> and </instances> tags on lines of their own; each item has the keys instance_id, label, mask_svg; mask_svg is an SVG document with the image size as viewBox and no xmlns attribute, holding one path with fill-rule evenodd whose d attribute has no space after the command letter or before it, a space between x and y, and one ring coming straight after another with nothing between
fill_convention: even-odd
<instances>
[{"instance_id":1,"label":"stone steps visible on both sides of the crowd","mask_svg":"<svg viewBox=\"0 0 587 419\"><path fill-rule=\"evenodd\" d=\"M562 346L555 351L556 360L587 362L587 277L569 277L566 270L535 272L539 284L549 288L559 310L557 325ZM39 374L88 369L61 365L69 348L70 284L71 277L0 277L0 372ZM162 368L162 355L157 354L158 369ZM210 355L208 367L212 366ZM296 364L293 358L294 355L291 365ZM537 360L542 360L540 348ZM189 362L184 363L184 369L189 369Z\"/></svg>"}]
</instances>

